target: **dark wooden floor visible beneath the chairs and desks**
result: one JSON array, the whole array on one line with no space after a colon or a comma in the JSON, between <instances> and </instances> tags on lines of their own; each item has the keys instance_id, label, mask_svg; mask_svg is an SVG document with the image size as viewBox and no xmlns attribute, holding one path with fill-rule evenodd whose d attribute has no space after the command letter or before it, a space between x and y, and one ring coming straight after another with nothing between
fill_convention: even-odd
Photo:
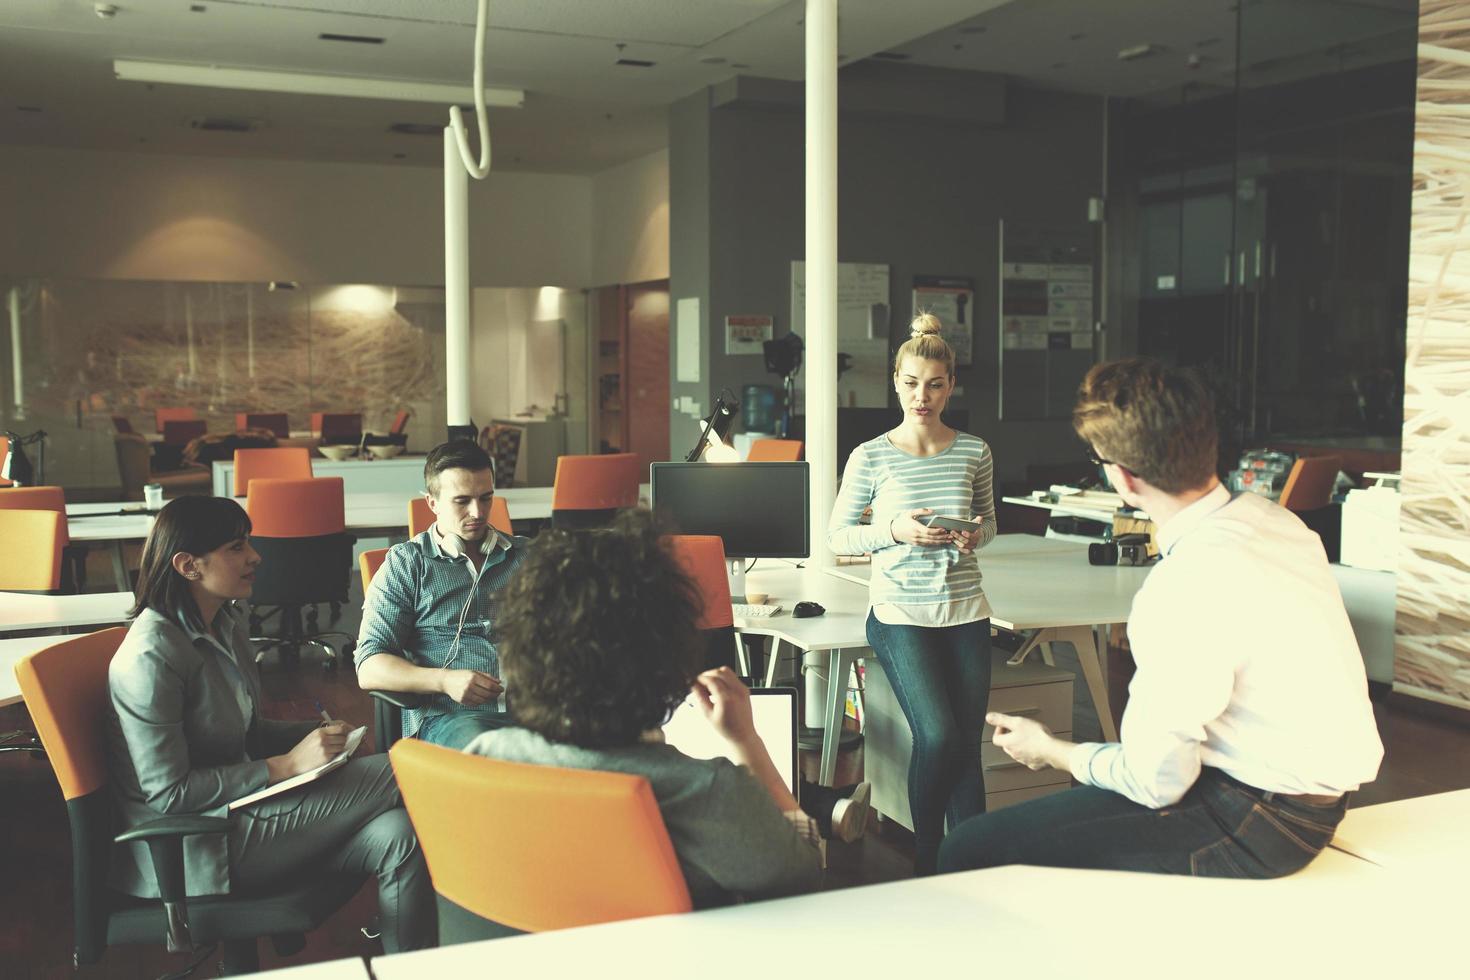
<instances>
[{"instance_id":1,"label":"dark wooden floor visible beneath the chairs and desks","mask_svg":"<svg viewBox=\"0 0 1470 980\"><path fill-rule=\"evenodd\" d=\"M93 582L110 579L104 567L97 567ZM354 610L344 613L341 626L356 630ZM1069 666L1058 655L1058 666ZM326 671L315 664L282 666L268 658L263 682L269 710L282 718L316 717L315 702L334 716L354 724L372 724L370 702L351 674ZM1076 685L1076 729L1082 738L1095 716L1086 704L1085 685ZM1386 755L1377 782L1354 795L1354 805L1367 805L1421 796L1448 789L1470 788L1470 729L1454 723L1419 716L1410 708L1374 705ZM24 705L0 708L0 732L28 727ZM814 774L814 758L804 758L808 776ZM861 777L861 743L842 752L838 760L838 783ZM187 962L184 956L169 956L162 943L157 948L119 948L106 954L93 967L72 971L71 965L71 843L66 810L44 760L28 754L0 754L0 868L4 890L0 893L0 977L156 977ZM828 851L828 887L851 887L908 877L911 874L911 842L894 826L873 827L869 836L854 845L835 842ZM279 961L269 943L263 943L263 965L285 965L372 955L376 943L359 934L368 923L376 901L372 884L366 884L356 899L338 912L325 929L309 937L304 952ZM196 976L216 976L213 964Z\"/></svg>"}]
</instances>

